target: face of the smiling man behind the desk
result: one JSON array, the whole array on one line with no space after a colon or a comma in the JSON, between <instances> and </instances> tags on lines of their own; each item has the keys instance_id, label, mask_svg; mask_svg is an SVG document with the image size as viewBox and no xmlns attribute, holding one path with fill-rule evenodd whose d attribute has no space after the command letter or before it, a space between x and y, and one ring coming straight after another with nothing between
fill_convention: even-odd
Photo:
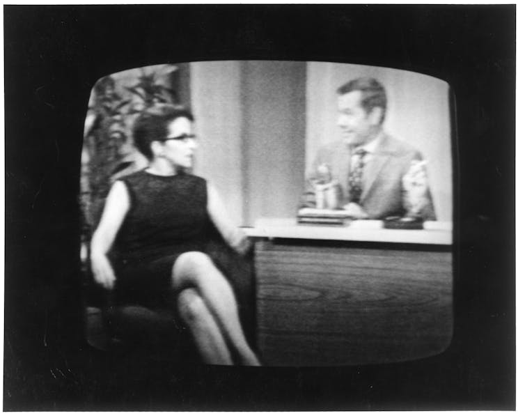
<instances>
[{"instance_id":1,"label":"face of the smiling man behind the desk","mask_svg":"<svg viewBox=\"0 0 525 418\"><path fill-rule=\"evenodd\" d=\"M350 146L366 144L377 134L379 109L367 114L361 107L361 94L361 91L350 91L337 98L337 125L343 133L343 141Z\"/></svg>"}]
</instances>

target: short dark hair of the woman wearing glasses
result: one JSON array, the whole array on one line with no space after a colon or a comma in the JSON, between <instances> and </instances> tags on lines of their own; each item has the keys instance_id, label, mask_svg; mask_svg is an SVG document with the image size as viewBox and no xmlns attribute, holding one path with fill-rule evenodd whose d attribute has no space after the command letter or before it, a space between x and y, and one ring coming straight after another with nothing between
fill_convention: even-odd
<instances>
[{"instance_id":1,"label":"short dark hair of the woman wearing glasses","mask_svg":"<svg viewBox=\"0 0 525 418\"><path fill-rule=\"evenodd\" d=\"M136 148L151 160L153 158L151 143L166 140L168 125L178 118L194 121L191 111L178 104L158 103L148 107L133 124L133 140Z\"/></svg>"}]
</instances>

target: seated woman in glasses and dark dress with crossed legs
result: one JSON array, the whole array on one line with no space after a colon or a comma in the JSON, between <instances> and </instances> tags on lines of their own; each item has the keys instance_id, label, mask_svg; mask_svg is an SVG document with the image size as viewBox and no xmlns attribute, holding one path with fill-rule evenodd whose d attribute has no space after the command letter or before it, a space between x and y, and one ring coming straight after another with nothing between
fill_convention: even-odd
<instances>
[{"instance_id":1,"label":"seated woman in glasses and dark dress with crossed legs","mask_svg":"<svg viewBox=\"0 0 525 418\"><path fill-rule=\"evenodd\" d=\"M204 252L206 224L211 220L240 254L248 241L228 222L213 187L185 172L196 148L193 121L187 109L170 104L156 104L137 118L135 145L149 164L111 187L91 241L93 274L116 297L147 307L173 306L175 298L204 362L233 364L235 355L257 366L232 288ZM115 242L119 255L111 265Z\"/></svg>"}]
</instances>

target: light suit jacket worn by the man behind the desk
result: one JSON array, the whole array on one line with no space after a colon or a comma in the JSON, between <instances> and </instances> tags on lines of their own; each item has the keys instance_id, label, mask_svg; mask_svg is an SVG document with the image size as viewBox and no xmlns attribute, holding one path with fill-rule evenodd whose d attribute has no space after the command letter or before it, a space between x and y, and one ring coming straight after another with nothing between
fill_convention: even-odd
<instances>
[{"instance_id":1,"label":"light suit jacket worn by the man behind the desk","mask_svg":"<svg viewBox=\"0 0 525 418\"><path fill-rule=\"evenodd\" d=\"M341 141L328 144L319 150L313 167L308 172L301 207L315 207L315 192L311 180L315 178L315 171L320 164L327 164L332 178L338 182L338 206L342 208L349 203L350 157L350 148ZM402 178L414 160L422 160L421 153L416 148L388 134L382 134L375 152L363 169L363 192L359 204L368 213L369 219L406 214L407 210L403 206ZM436 219L430 192L425 200L427 203L421 215L425 220Z\"/></svg>"}]
</instances>

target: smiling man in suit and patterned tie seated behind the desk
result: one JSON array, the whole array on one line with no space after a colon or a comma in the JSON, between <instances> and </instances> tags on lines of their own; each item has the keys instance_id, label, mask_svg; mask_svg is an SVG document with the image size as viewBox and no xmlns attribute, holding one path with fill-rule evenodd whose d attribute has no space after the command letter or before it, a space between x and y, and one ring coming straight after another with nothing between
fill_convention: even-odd
<instances>
[{"instance_id":1,"label":"smiling man in suit and patterned tie seated behind the desk","mask_svg":"<svg viewBox=\"0 0 525 418\"><path fill-rule=\"evenodd\" d=\"M356 219L435 219L421 153L383 130L386 93L382 84L362 77L340 86L337 93L337 124L343 141L319 150L301 207L315 207L315 189L319 193L328 185L336 196L328 200L334 202L328 207L345 209Z\"/></svg>"}]
</instances>

